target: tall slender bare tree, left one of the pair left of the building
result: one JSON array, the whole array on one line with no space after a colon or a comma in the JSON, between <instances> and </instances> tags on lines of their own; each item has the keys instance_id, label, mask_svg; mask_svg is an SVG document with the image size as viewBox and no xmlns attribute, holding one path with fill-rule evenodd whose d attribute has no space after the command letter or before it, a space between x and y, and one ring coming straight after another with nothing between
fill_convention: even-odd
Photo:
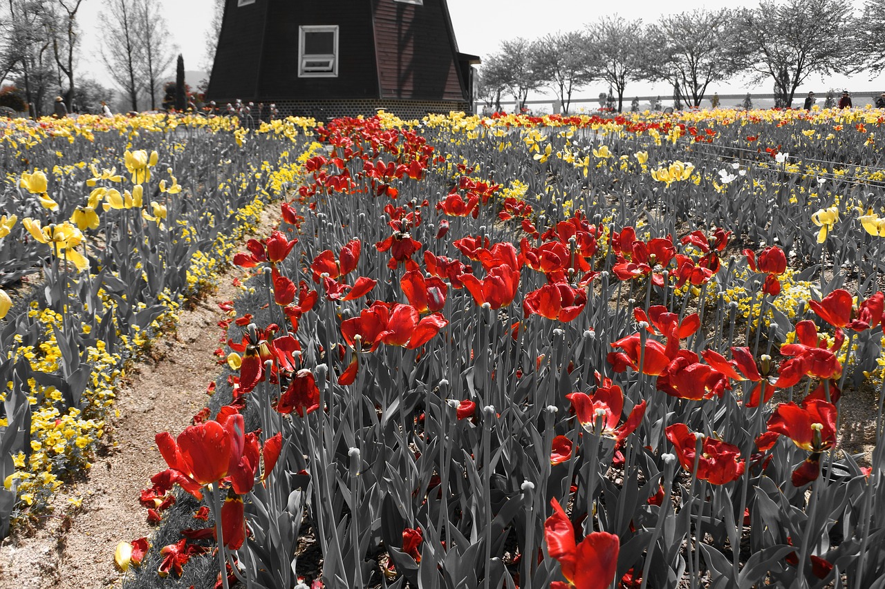
<instances>
[{"instance_id":1,"label":"tall slender bare tree, left one of the pair left of the building","mask_svg":"<svg viewBox=\"0 0 885 589\"><path fill-rule=\"evenodd\" d=\"M104 29L102 60L133 111L138 110L138 93L142 89L143 44L137 25L138 6L138 0L104 0L99 18Z\"/></svg>"}]
</instances>

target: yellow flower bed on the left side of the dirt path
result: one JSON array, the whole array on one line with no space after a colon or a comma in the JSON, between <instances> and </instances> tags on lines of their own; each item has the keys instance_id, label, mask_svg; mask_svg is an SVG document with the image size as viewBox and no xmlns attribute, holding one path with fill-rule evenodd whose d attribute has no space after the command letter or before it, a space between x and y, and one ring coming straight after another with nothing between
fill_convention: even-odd
<instances>
[{"instance_id":1,"label":"yellow flower bed on the left side of the dirt path","mask_svg":"<svg viewBox=\"0 0 885 589\"><path fill-rule=\"evenodd\" d=\"M161 117L45 121L0 137L7 161L62 162L9 174L0 195L4 279L42 260L45 280L35 300L22 291L4 310L0 531L41 515L89 469L127 362L174 328L181 302L212 287L288 189L300 122L254 141L228 133L235 120Z\"/></svg>"}]
</instances>

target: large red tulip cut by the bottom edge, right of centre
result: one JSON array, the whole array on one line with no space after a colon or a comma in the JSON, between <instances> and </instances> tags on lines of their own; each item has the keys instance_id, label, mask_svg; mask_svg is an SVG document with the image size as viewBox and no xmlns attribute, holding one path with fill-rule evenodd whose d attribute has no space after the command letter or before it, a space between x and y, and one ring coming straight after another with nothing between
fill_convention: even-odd
<instances>
[{"instance_id":1,"label":"large red tulip cut by the bottom edge, right of centre","mask_svg":"<svg viewBox=\"0 0 885 589\"><path fill-rule=\"evenodd\" d=\"M544 539L547 540L548 553L559 562L562 575L568 582L566 589L605 589L612 585L618 571L618 536L591 532L577 544L566 512L556 499L550 500L550 505L553 514L544 522Z\"/></svg>"}]
</instances>

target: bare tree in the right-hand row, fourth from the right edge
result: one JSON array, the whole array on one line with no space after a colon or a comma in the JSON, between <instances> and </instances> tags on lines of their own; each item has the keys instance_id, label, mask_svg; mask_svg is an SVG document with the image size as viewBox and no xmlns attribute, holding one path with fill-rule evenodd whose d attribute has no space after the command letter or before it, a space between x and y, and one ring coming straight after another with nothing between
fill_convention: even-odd
<instances>
[{"instance_id":1,"label":"bare tree in the right-hand row, fourth from the right edge","mask_svg":"<svg viewBox=\"0 0 885 589\"><path fill-rule=\"evenodd\" d=\"M587 26L589 41L584 56L596 62L600 80L612 85L618 94L618 112L624 107L627 82L647 77L646 62L650 43L642 19L627 20L617 14L603 17Z\"/></svg>"}]
</instances>

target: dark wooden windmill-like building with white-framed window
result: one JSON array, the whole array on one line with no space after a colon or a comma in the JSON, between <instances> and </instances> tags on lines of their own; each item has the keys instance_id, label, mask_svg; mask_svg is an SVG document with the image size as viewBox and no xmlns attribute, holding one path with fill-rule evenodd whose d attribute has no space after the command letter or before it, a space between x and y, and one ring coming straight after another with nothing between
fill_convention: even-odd
<instances>
[{"instance_id":1,"label":"dark wooden windmill-like building with white-framed window","mask_svg":"<svg viewBox=\"0 0 885 589\"><path fill-rule=\"evenodd\" d=\"M469 111L473 64L445 0L227 0L207 99L282 115Z\"/></svg>"}]
</instances>

